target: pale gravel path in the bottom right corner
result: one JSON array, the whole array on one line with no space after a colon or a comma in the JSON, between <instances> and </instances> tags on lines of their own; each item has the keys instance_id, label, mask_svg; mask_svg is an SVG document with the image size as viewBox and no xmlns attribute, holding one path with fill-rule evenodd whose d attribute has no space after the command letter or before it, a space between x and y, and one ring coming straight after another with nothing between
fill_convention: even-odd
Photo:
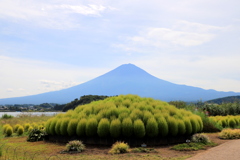
<instances>
[{"instance_id":1,"label":"pale gravel path in the bottom right corner","mask_svg":"<svg viewBox=\"0 0 240 160\"><path fill-rule=\"evenodd\" d=\"M231 140L187 160L240 160L240 140Z\"/></svg>"}]
</instances>

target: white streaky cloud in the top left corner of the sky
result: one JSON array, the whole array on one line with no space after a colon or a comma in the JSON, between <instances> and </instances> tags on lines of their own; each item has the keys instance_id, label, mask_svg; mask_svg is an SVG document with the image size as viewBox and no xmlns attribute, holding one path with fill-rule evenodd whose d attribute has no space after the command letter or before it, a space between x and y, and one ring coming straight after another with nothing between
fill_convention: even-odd
<instances>
[{"instance_id":1,"label":"white streaky cloud in the top left corner of the sky","mask_svg":"<svg viewBox=\"0 0 240 160\"><path fill-rule=\"evenodd\" d=\"M54 29L77 28L83 23L79 15L98 17L107 10L113 10L113 7L97 4L84 5L79 2L71 5L66 4L66 1L0 1L0 19Z\"/></svg>"}]
</instances>

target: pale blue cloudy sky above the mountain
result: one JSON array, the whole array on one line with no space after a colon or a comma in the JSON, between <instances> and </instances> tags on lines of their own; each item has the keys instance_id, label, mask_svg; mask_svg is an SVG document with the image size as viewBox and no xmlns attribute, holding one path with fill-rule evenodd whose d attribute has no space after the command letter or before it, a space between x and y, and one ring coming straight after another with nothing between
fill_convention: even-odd
<instances>
[{"instance_id":1,"label":"pale blue cloudy sky above the mountain","mask_svg":"<svg viewBox=\"0 0 240 160\"><path fill-rule=\"evenodd\" d=\"M239 0L0 0L0 98L69 88L132 63L240 92Z\"/></svg>"}]
</instances>

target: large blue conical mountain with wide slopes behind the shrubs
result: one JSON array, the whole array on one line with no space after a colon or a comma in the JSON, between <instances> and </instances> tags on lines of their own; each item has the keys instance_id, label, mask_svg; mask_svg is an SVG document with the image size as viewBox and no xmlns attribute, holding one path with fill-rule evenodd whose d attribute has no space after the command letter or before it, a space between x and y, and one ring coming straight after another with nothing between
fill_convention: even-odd
<instances>
[{"instance_id":1,"label":"large blue conical mountain with wide slopes behind the shrubs","mask_svg":"<svg viewBox=\"0 0 240 160\"><path fill-rule=\"evenodd\" d=\"M205 90L198 87L174 84L154 77L133 64L116 69L83 84L38 95L0 99L0 104L68 103L83 95L137 94L163 101L207 101L240 93Z\"/></svg>"}]
</instances>

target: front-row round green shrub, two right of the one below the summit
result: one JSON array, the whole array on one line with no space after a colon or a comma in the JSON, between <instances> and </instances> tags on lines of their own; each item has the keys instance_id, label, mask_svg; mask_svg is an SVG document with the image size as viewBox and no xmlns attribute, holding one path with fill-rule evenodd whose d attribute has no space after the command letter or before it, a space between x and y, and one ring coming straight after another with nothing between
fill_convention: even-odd
<instances>
[{"instance_id":1,"label":"front-row round green shrub, two right of the one below the summit","mask_svg":"<svg viewBox=\"0 0 240 160\"><path fill-rule=\"evenodd\" d=\"M146 133L149 137L156 137L158 135L158 123L155 118L150 118L147 121Z\"/></svg>"}]
</instances>

